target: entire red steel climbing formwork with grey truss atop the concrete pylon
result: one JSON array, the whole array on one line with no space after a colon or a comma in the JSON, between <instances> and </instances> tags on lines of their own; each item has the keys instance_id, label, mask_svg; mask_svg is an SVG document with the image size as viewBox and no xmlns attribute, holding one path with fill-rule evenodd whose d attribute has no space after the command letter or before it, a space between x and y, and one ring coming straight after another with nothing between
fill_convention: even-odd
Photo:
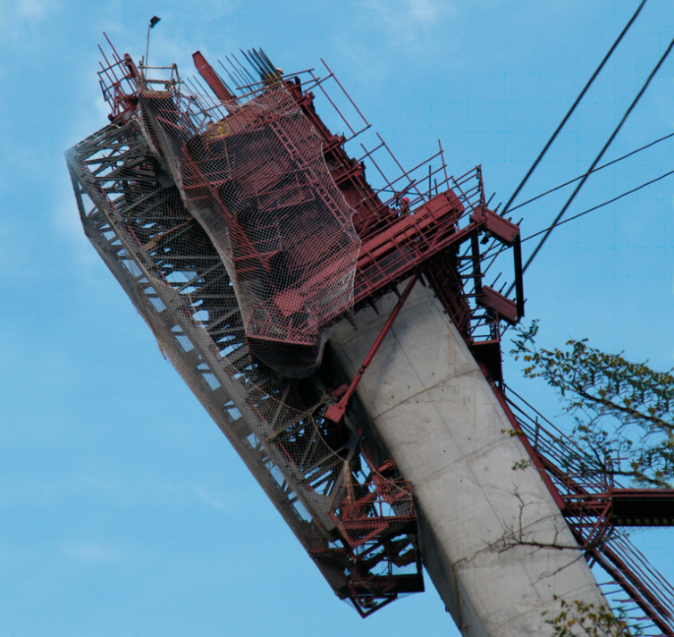
<instances>
[{"instance_id":1,"label":"entire red steel climbing formwork with grey truss atop the concrete pylon","mask_svg":"<svg viewBox=\"0 0 674 637\"><path fill-rule=\"evenodd\" d=\"M349 403L358 377L348 389L318 367L322 341L336 320L409 280L400 308L420 280L500 382L499 324L523 314L518 226L488 207L479 167L448 175L442 147L411 171L382 138L350 157L345 144L369 124L355 130L344 118L350 138L325 126L313 91L335 105L325 87L341 89L327 67L324 77L284 76L262 52L247 58L260 79L237 92L195 54L217 98L209 103L175 66L104 55L111 123L69 152L69 167L89 239L160 347L335 592L365 616L423 590L416 515L409 483L364 440ZM382 154L398 178L385 176ZM484 285L507 247L515 300Z\"/></svg>"}]
</instances>

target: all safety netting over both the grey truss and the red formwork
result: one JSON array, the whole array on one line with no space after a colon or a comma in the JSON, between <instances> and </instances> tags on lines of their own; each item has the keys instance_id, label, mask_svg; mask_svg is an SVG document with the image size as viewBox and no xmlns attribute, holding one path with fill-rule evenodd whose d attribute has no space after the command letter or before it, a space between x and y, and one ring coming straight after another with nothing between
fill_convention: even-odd
<instances>
[{"instance_id":1,"label":"all safety netting over both the grey truss and the red formwork","mask_svg":"<svg viewBox=\"0 0 674 637\"><path fill-rule=\"evenodd\" d=\"M218 116L179 85L139 80L133 107L69 151L85 231L334 591L369 614L423 579L409 483L362 423L324 417L336 379L306 375L353 305L352 210L280 83ZM304 349L284 351L293 334Z\"/></svg>"}]
</instances>

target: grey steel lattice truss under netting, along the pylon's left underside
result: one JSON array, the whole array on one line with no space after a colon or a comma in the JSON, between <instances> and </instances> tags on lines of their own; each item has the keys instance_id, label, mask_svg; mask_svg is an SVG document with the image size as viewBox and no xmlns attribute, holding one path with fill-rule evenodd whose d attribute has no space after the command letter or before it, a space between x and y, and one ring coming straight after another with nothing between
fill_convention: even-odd
<instances>
[{"instance_id":1,"label":"grey steel lattice truss under netting, along the pylon's left underside","mask_svg":"<svg viewBox=\"0 0 674 637\"><path fill-rule=\"evenodd\" d=\"M325 420L334 398L316 374L251 362L229 274L141 122L69 153L89 239L335 592L366 614L423 590L409 484L378 472L352 427Z\"/></svg>"}]
</instances>

